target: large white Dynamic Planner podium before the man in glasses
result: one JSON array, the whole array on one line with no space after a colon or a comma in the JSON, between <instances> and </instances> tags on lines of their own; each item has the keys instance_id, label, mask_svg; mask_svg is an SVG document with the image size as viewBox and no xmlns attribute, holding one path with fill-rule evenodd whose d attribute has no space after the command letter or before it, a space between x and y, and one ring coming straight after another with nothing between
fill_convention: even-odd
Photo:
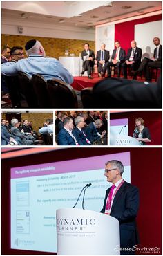
<instances>
[{"instance_id":1,"label":"large white Dynamic Planner podium before the man in glasses","mask_svg":"<svg viewBox=\"0 0 163 256\"><path fill-rule=\"evenodd\" d=\"M57 255L119 255L119 221L90 210L57 210Z\"/></svg>"}]
</instances>

